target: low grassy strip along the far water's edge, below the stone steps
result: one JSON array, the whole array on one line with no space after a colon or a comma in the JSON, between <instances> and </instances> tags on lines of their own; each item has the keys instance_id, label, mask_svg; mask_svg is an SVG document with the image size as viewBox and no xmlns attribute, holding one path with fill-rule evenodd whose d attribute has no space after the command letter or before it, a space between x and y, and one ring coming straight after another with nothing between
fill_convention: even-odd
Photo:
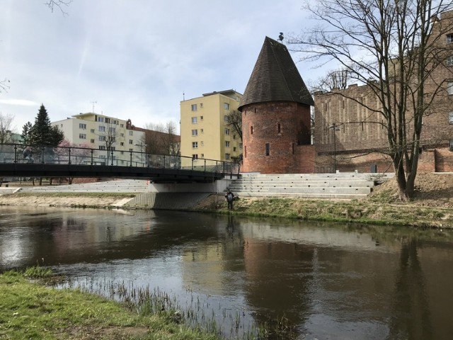
<instances>
[{"instance_id":1,"label":"low grassy strip along the far water's edge, below the stone steps","mask_svg":"<svg viewBox=\"0 0 453 340\"><path fill-rule=\"evenodd\" d=\"M420 201L398 203L396 200L389 200L386 196L371 196L363 200L240 198L234 202L233 211L227 210L224 199L211 197L210 202L205 202L195 210L300 220L453 227L452 208L425 206L420 204Z\"/></svg>"}]
</instances>

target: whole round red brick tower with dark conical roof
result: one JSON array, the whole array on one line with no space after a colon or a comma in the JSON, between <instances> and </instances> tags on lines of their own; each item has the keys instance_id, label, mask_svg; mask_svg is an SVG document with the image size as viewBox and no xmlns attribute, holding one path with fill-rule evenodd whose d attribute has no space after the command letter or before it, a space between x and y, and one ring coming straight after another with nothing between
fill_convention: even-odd
<instances>
[{"instance_id":1,"label":"whole round red brick tower with dark conical roof","mask_svg":"<svg viewBox=\"0 0 453 340\"><path fill-rule=\"evenodd\" d=\"M266 37L238 108L242 112L243 171L313 172L312 105L313 98L286 46Z\"/></svg>"}]
</instances>

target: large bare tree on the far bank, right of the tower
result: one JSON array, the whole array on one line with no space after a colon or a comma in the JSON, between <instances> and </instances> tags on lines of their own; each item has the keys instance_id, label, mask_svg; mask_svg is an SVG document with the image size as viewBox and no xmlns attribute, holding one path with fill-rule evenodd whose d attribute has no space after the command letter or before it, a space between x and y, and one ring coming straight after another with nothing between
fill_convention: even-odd
<instances>
[{"instance_id":1,"label":"large bare tree on the far bank, right of the tower","mask_svg":"<svg viewBox=\"0 0 453 340\"><path fill-rule=\"evenodd\" d=\"M451 53L441 38L453 27L452 21L436 23L452 1L329 0L310 1L305 8L321 25L291 42L302 59L335 62L350 79L368 84L377 106L350 99L384 121L399 196L411 198L423 116L447 91L446 82L436 82L434 74Z\"/></svg>"}]
</instances>

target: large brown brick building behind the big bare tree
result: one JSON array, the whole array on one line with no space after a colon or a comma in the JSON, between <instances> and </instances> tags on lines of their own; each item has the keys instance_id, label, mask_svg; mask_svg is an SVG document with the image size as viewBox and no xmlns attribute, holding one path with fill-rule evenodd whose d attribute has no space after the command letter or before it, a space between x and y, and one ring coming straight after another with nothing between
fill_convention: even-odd
<instances>
[{"instance_id":1,"label":"large brown brick building behind the big bare tree","mask_svg":"<svg viewBox=\"0 0 453 340\"><path fill-rule=\"evenodd\" d=\"M442 13L441 19L433 21L432 36L440 35L435 44L445 55L440 54L444 60L434 66L431 77L424 84L425 94L428 97L433 95L434 100L430 111L423 117L420 172L453 169L453 152L449 151L450 141L453 140L453 87L450 88L453 86L453 33L446 30L440 34L441 29L451 27L452 20L453 11L449 11ZM374 154L389 144L386 121L379 113L382 106L370 84L355 84L344 90L316 93L314 101L317 171L331 172L335 169L335 163L340 171L369 171L374 164L378 164L378 171L381 171L381 166L384 169L388 167L385 165L388 157ZM413 131L411 110L413 108L409 105L406 115L408 136ZM390 169L393 171L393 167Z\"/></svg>"}]
</instances>

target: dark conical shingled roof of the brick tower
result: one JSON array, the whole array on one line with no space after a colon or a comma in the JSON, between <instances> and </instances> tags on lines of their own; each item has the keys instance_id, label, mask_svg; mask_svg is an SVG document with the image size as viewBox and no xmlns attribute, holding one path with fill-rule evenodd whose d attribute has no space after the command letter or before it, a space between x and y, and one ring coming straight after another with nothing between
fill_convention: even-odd
<instances>
[{"instance_id":1,"label":"dark conical shingled roof of the brick tower","mask_svg":"<svg viewBox=\"0 0 453 340\"><path fill-rule=\"evenodd\" d=\"M266 101L294 101L314 105L313 98L285 45L266 37L248 79L239 111L243 106Z\"/></svg>"}]
</instances>

